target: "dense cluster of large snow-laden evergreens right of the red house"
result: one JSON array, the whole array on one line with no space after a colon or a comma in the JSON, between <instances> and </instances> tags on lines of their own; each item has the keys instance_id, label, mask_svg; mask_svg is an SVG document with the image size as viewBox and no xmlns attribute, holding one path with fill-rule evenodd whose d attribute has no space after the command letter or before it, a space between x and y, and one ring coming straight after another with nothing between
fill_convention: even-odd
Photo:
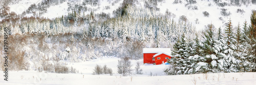
<instances>
[{"instance_id":1,"label":"dense cluster of large snow-laden evergreens right of the red house","mask_svg":"<svg viewBox=\"0 0 256 85\"><path fill-rule=\"evenodd\" d=\"M168 75L219 73L219 72L255 72L256 71L256 11L251 14L251 25L245 21L243 26L233 27L231 20L218 30L211 23L192 41L183 35L174 45L176 58L165 70ZM225 36L223 36L225 35Z\"/></svg>"}]
</instances>

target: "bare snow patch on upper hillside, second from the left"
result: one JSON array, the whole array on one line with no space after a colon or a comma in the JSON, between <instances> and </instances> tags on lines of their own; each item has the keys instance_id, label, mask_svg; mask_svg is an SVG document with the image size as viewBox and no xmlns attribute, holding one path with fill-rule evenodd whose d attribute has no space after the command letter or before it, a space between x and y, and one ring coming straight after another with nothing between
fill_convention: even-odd
<instances>
[{"instance_id":1,"label":"bare snow patch on upper hillside, second from the left","mask_svg":"<svg viewBox=\"0 0 256 85\"><path fill-rule=\"evenodd\" d=\"M62 15L68 15L68 13L68 2L64 2L62 4L49 7L47 9L47 13L42 16L52 19L56 17L61 17Z\"/></svg>"}]
</instances>

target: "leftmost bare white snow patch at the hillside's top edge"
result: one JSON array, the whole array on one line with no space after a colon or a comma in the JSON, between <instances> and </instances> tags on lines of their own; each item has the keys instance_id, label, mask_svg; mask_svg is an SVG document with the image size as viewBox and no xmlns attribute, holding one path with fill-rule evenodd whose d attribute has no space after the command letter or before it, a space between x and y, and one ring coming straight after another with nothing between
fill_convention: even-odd
<instances>
[{"instance_id":1,"label":"leftmost bare white snow patch at the hillside's top edge","mask_svg":"<svg viewBox=\"0 0 256 85\"><path fill-rule=\"evenodd\" d=\"M16 14L22 14L24 11L26 11L30 5L38 4L42 0L22 0L19 1L17 4L10 5L10 12L15 12Z\"/></svg>"}]
</instances>

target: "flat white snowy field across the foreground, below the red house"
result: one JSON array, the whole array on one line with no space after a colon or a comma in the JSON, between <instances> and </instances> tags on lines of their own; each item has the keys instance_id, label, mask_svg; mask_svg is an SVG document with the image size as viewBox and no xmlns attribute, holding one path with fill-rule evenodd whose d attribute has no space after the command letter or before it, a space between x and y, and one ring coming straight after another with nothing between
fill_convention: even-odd
<instances>
[{"instance_id":1,"label":"flat white snowy field across the foreground, below the red house","mask_svg":"<svg viewBox=\"0 0 256 85\"><path fill-rule=\"evenodd\" d=\"M190 75L165 75L163 68L167 65L141 65L142 75L121 76L117 74L118 58L101 58L82 63L70 63L79 70L77 74L59 74L37 71L10 71L8 81L1 77L0 84L255 84L256 73L209 73ZM137 60L142 63L142 60ZM135 67L136 62L132 60ZM113 69L113 76L109 74L92 75L94 66L107 65ZM133 67L133 68L134 68ZM0 71L3 73L3 71ZM155 76L150 76L152 72ZM156 76L157 74L157 76ZM207 77L206 77L207 76ZM132 80L131 80L131 77ZM207 78L207 79L206 79Z\"/></svg>"}]
</instances>

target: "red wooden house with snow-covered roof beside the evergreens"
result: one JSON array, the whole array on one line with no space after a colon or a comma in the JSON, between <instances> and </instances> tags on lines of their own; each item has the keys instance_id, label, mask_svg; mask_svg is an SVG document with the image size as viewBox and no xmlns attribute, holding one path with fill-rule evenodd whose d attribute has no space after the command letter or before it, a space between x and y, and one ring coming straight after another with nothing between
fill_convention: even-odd
<instances>
[{"instance_id":1,"label":"red wooden house with snow-covered roof beside the evergreens","mask_svg":"<svg viewBox=\"0 0 256 85\"><path fill-rule=\"evenodd\" d=\"M171 57L174 57L170 53L172 53L170 48L143 48L143 63L163 64Z\"/></svg>"}]
</instances>

